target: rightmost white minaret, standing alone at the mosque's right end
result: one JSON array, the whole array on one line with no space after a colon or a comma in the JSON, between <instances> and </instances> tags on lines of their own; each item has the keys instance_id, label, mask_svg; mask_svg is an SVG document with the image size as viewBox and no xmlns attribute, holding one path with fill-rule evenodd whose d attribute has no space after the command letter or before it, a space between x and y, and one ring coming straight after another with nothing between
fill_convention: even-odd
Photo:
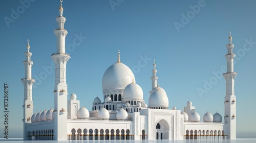
<instances>
[{"instance_id":1,"label":"rightmost white minaret, standing alone at the mosque's right end","mask_svg":"<svg viewBox=\"0 0 256 143\"><path fill-rule=\"evenodd\" d=\"M226 96L225 96L225 123L227 123L227 134L228 139L236 139L236 96L234 96L234 79L237 77L237 73L233 71L233 61L236 56L233 54L232 37L231 31L228 37L229 44L227 44L227 54L225 55L227 59L227 73L223 74L223 77L226 80Z\"/></svg>"}]
</instances>

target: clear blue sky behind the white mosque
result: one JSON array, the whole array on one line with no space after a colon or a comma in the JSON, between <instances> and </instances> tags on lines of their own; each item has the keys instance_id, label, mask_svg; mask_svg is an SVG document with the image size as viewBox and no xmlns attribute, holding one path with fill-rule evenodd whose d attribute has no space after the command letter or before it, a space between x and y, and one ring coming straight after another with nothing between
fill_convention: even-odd
<instances>
[{"instance_id":1,"label":"clear blue sky behind the white mosque","mask_svg":"<svg viewBox=\"0 0 256 143\"><path fill-rule=\"evenodd\" d=\"M54 68L60 2L0 1L0 81L3 114L4 83L9 84L9 137L22 137L27 39L32 52L34 112L54 107ZM229 31L236 53L234 71L237 96L237 136L256 137L256 1L71 1L64 0L63 16L69 96L91 110L95 97L103 101L104 71L117 62L129 66L148 104L151 70L156 59L159 86L165 89L169 109L183 110L191 101L201 120L204 113L224 117L225 79ZM74 42L76 41L76 42ZM226 72L226 71L225 71ZM200 90L200 92L199 92ZM0 115L3 137L3 115ZM224 118L223 118L224 121Z\"/></svg>"}]
</instances>

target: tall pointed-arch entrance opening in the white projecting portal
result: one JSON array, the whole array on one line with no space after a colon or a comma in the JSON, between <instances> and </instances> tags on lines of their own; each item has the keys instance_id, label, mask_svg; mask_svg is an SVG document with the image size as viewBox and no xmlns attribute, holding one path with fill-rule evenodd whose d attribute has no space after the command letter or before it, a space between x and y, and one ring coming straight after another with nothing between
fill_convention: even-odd
<instances>
[{"instance_id":1,"label":"tall pointed-arch entrance opening in the white projecting portal","mask_svg":"<svg viewBox=\"0 0 256 143\"><path fill-rule=\"evenodd\" d=\"M169 139L169 124L160 120L156 125L156 139Z\"/></svg>"}]
</instances>

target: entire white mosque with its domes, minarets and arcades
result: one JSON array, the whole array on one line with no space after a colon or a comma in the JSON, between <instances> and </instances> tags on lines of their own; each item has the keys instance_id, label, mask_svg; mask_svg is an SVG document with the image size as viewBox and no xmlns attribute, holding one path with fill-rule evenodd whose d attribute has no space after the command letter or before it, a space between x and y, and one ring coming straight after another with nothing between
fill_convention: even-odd
<instances>
[{"instance_id":1,"label":"entire white mosque with its domes, minarets and arcades","mask_svg":"<svg viewBox=\"0 0 256 143\"><path fill-rule=\"evenodd\" d=\"M62 2L62 1L61 1ZM140 140L140 139L236 139L236 96L234 95L231 32L229 43L226 79L226 96L224 98L225 115L207 112L200 122L200 115L190 101L183 111L176 107L169 109L165 90L157 83L156 63L153 64L152 90L148 105L143 99L143 90L136 84L132 70L118 60L106 69L102 78L103 99L94 99L92 110L80 107L75 93L68 96L66 83L66 64L70 55L65 53L64 29L66 18L62 16L60 3L59 16L56 18L58 28L54 30L57 37L57 51L52 54L55 62L54 108L33 112L31 77L32 53L29 40L25 52L24 84L24 140Z\"/></svg>"}]
</instances>

